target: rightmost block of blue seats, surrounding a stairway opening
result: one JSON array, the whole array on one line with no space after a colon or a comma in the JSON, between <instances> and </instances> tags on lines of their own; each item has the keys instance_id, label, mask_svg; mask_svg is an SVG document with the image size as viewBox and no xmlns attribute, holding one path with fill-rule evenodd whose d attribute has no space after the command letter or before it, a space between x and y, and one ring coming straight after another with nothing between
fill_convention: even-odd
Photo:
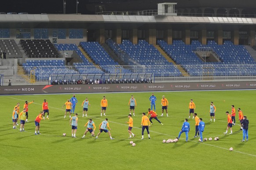
<instances>
[{"instance_id":1,"label":"rightmost block of blue seats, surrounding a stairway opening","mask_svg":"<svg viewBox=\"0 0 256 170\"><path fill-rule=\"evenodd\" d=\"M212 74L215 76L232 76L240 72L241 75L249 75L252 71L247 70L246 67L243 70L237 67L226 70L220 64L256 64L244 46L234 45L230 41L225 41L223 45L217 45L215 41L208 41L206 46L202 46L199 41L192 41L191 45L185 45L181 40L174 40L172 45L168 45L163 40L158 40L157 43L177 64L183 65L190 76L201 76L207 74L209 70L207 66L201 71L199 67L186 67L184 65L215 64ZM203 62L194 53L197 47L211 47L218 54L220 62Z\"/></svg>"}]
</instances>

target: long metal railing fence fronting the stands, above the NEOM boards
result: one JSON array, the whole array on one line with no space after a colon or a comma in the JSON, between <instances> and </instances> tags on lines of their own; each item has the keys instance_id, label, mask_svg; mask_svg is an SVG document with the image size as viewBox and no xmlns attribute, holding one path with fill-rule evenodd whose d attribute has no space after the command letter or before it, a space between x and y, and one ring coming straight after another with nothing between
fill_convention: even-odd
<instances>
[{"instance_id":1,"label":"long metal railing fence fronting the stands, above the NEOM boards","mask_svg":"<svg viewBox=\"0 0 256 170\"><path fill-rule=\"evenodd\" d=\"M183 68L189 76L183 76L179 71ZM96 69L98 68L98 69ZM101 69L102 68L102 69ZM1 85L8 85L11 80L12 85L27 84L48 84L49 75L52 71L60 72L62 67L37 67L37 72L25 71L24 67L0 67ZM48 72L45 72L48 70ZM256 64L202 64L202 65L129 65L129 66L66 66L65 70L75 71L77 74L86 74L86 71L95 70L93 74L105 74L113 76L133 73L154 73L155 81L198 81L198 80L244 80L256 81ZM99 70L99 72L97 72ZM106 70L107 72L102 72ZM35 74L35 75L34 75ZM91 74L91 73L90 73ZM113 77L114 78L114 77Z\"/></svg>"}]
</instances>

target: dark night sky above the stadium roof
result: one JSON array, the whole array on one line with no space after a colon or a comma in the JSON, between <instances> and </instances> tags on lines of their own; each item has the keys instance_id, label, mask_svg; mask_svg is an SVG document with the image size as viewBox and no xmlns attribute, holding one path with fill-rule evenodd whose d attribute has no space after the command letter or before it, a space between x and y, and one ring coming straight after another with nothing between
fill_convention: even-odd
<instances>
[{"instance_id":1,"label":"dark night sky above the stadium roof","mask_svg":"<svg viewBox=\"0 0 256 170\"><path fill-rule=\"evenodd\" d=\"M4 2L3 2L4 1ZM78 0L78 13L95 14L95 6L103 11L142 11L157 9L157 3L177 2L176 7L240 7L256 10L255 0ZM76 13L77 0L66 0L66 14ZM63 14L63 0L1 0L0 12L29 14Z\"/></svg>"}]
</instances>

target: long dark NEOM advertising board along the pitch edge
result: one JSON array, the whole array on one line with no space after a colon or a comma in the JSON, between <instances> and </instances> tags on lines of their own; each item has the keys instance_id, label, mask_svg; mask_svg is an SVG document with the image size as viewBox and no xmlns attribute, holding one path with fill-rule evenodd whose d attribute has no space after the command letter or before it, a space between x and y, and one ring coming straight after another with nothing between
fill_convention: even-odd
<instances>
[{"instance_id":1,"label":"long dark NEOM advertising board along the pitch edge","mask_svg":"<svg viewBox=\"0 0 256 170\"><path fill-rule=\"evenodd\" d=\"M256 81L173 82L103 85L24 85L0 86L0 94L89 93L89 92L156 92L184 90L256 89Z\"/></svg>"}]
</instances>

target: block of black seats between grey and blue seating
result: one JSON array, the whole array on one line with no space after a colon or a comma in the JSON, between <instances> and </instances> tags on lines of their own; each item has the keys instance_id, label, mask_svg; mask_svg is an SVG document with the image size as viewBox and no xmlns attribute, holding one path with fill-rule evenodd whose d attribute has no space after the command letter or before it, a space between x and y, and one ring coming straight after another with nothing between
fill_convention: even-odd
<instances>
[{"instance_id":1,"label":"block of black seats between grey and blue seating","mask_svg":"<svg viewBox=\"0 0 256 170\"><path fill-rule=\"evenodd\" d=\"M49 39L21 39L20 43L29 58L58 58L59 53Z\"/></svg>"}]
</instances>

